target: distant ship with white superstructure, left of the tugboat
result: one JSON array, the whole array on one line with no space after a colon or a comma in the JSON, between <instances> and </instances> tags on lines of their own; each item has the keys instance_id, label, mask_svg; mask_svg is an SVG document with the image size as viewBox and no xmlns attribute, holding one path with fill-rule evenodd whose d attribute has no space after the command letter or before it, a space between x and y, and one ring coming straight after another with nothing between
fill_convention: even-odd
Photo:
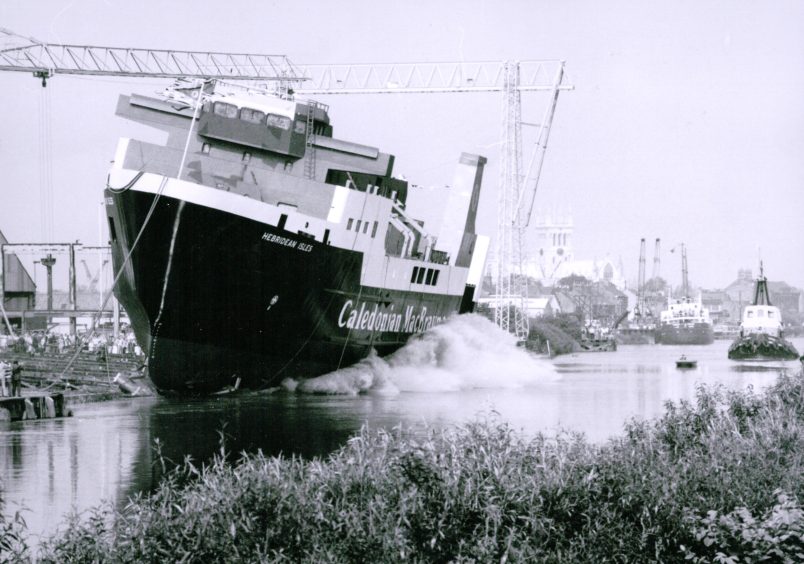
<instances>
[{"instance_id":1,"label":"distant ship with white superstructure, left of the tugboat","mask_svg":"<svg viewBox=\"0 0 804 564\"><path fill-rule=\"evenodd\" d=\"M715 332L709 310L703 306L700 295L697 301L689 296L687 248L684 243L681 244L681 277L683 297L673 299L668 295L667 309L659 314L655 341L662 345L709 345L715 341Z\"/></svg>"}]
</instances>

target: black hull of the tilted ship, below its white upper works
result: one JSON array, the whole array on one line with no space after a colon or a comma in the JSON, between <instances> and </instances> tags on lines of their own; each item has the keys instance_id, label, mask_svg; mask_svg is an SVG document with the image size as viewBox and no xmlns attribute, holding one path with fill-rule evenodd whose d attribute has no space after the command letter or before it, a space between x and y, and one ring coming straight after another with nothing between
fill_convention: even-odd
<instances>
[{"instance_id":1,"label":"black hull of the tilted ship, below its white upper works","mask_svg":"<svg viewBox=\"0 0 804 564\"><path fill-rule=\"evenodd\" d=\"M107 190L106 205L115 295L163 393L319 375L471 307L361 285L362 253L213 207L136 190Z\"/></svg>"}]
</instances>

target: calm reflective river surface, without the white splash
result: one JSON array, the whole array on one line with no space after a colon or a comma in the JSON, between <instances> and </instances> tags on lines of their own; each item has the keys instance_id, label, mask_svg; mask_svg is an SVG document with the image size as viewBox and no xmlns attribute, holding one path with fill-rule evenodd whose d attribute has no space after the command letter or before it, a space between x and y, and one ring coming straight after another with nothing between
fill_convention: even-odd
<instances>
[{"instance_id":1,"label":"calm reflective river surface, without the white splash","mask_svg":"<svg viewBox=\"0 0 804 564\"><path fill-rule=\"evenodd\" d=\"M122 504L154 487L161 476L157 441L161 455L174 463L186 456L209 460L219 451L219 432L232 456L261 449L309 458L331 453L363 424L444 426L494 412L526 434L565 427L603 442L631 418L660 415L668 400L694 401L701 384L759 390L780 370L800 369L798 362L733 363L726 359L728 344L686 350L623 346L614 353L560 357L554 359L559 378L524 387L505 381L495 387L486 379L486 387L449 392L277 393L77 405L71 418L0 423L2 496L10 503L7 513L29 509L25 516L32 531L52 532L73 507L86 509L103 499ZM804 339L795 344L802 349ZM677 370L682 353L698 360L697 368Z\"/></svg>"}]
</instances>

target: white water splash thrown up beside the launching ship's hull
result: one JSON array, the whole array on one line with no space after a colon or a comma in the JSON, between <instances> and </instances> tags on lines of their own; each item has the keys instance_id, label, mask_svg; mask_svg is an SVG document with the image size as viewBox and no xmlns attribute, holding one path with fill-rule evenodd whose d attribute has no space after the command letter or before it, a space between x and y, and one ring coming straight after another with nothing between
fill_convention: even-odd
<instances>
[{"instance_id":1,"label":"white water splash thrown up beside the launching ship's hull","mask_svg":"<svg viewBox=\"0 0 804 564\"><path fill-rule=\"evenodd\" d=\"M397 394L473 388L520 388L556 379L553 365L517 347L512 335L474 314L459 315L416 335L398 351L297 382L310 394Z\"/></svg>"}]
</instances>

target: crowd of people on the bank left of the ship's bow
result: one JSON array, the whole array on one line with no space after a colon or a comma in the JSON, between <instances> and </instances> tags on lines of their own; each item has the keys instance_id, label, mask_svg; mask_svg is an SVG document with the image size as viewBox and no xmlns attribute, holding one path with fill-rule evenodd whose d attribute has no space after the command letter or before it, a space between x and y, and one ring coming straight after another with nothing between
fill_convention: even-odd
<instances>
[{"instance_id":1,"label":"crowd of people on the bank left of the ship's bow","mask_svg":"<svg viewBox=\"0 0 804 564\"><path fill-rule=\"evenodd\" d=\"M124 355L142 356L142 349L134 339L134 333L128 329L120 331L115 337L111 333L83 333L70 335L53 331L24 331L16 335L0 335L0 352L13 351L28 353L32 356L49 353L62 354L72 352L80 343L83 351L98 356Z\"/></svg>"}]
</instances>

